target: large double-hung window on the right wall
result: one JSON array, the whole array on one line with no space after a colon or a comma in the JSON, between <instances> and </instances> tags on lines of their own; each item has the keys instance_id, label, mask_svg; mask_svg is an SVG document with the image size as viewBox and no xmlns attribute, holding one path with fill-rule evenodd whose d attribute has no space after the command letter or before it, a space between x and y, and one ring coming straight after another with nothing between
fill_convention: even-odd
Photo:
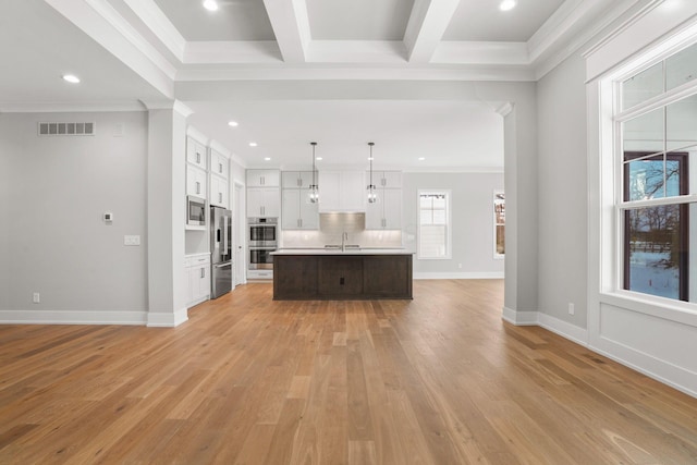
<instances>
[{"instance_id":1,"label":"large double-hung window on the right wall","mask_svg":"<svg viewBox=\"0 0 697 465\"><path fill-rule=\"evenodd\" d=\"M614 85L619 284L697 302L697 45Z\"/></svg>"}]
</instances>

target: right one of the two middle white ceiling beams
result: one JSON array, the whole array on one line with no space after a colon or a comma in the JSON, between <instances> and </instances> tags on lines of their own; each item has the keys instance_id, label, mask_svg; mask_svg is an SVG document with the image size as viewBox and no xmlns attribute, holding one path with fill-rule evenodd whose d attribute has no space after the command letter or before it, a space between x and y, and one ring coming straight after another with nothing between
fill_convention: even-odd
<instances>
[{"instance_id":1,"label":"right one of the two middle white ceiling beams","mask_svg":"<svg viewBox=\"0 0 697 465\"><path fill-rule=\"evenodd\" d=\"M408 61L428 63L440 44L460 0L416 0L404 33Z\"/></svg>"}]
</instances>

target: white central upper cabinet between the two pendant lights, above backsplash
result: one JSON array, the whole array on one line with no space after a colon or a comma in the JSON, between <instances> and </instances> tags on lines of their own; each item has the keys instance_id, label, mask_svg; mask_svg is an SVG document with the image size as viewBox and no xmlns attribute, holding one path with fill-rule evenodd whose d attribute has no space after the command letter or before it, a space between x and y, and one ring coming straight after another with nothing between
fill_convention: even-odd
<instances>
[{"instance_id":1,"label":"white central upper cabinet between the two pendant lights, above backsplash","mask_svg":"<svg viewBox=\"0 0 697 465\"><path fill-rule=\"evenodd\" d=\"M320 171L319 211L366 211L363 171Z\"/></svg>"}]
</instances>

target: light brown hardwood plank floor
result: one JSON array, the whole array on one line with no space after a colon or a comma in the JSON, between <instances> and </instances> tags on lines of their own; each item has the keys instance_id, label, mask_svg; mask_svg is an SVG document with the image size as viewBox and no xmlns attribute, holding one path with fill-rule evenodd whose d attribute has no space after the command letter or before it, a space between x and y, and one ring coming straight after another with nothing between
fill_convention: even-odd
<instances>
[{"instance_id":1,"label":"light brown hardwood plank floor","mask_svg":"<svg viewBox=\"0 0 697 465\"><path fill-rule=\"evenodd\" d=\"M248 284L174 329L0 327L0 463L697 463L697 400L503 322L502 295Z\"/></svg>"}]
</instances>

